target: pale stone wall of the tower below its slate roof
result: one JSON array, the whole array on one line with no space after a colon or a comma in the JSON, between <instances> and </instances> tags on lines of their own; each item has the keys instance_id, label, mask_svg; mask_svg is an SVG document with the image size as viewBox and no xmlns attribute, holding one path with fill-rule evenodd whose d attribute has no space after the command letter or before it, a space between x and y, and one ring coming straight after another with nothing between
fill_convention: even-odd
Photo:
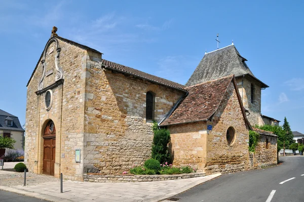
<instances>
[{"instance_id":1,"label":"pale stone wall of the tower below its slate roof","mask_svg":"<svg viewBox=\"0 0 304 202\"><path fill-rule=\"evenodd\" d=\"M242 88L243 79L243 88ZM254 102L251 103L251 83L254 84ZM247 116L251 125L259 124L261 118L261 86L260 84L248 77L237 78L237 85L239 93L245 109L249 110L250 114Z\"/></svg>"}]
</instances>

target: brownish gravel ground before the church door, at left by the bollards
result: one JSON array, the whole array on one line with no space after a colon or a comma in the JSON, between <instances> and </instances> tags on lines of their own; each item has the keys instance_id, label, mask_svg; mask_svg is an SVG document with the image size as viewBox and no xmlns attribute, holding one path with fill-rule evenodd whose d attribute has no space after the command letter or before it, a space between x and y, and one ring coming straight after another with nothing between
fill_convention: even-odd
<instances>
[{"instance_id":1,"label":"brownish gravel ground before the church door, at left by the bollards","mask_svg":"<svg viewBox=\"0 0 304 202\"><path fill-rule=\"evenodd\" d=\"M0 170L0 186L13 187L16 185L23 185L24 173L1 171ZM44 182L58 182L59 178L54 178L53 176L47 175L36 175L34 173L26 173L26 184L38 184Z\"/></svg>"}]
</instances>

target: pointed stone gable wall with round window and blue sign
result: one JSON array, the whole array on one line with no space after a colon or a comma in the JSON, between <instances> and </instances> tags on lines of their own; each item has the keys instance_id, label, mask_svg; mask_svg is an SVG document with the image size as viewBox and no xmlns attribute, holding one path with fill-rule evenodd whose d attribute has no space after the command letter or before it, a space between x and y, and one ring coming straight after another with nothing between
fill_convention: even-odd
<instances>
[{"instance_id":1,"label":"pointed stone gable wall with round window and blue sign","mask_svg":"<svg viewBox=\"0 0 304 202\"><path fill-rule=\"evenodd\" d=\"M213 128L209 132L207 141L206 174L247 170L249 131L233 83L229 85L212 121L208 121L207 124L213 125ZM226 131L231 126L235 130L235 138L229 145Z\"/></svg>"}]
</instances>

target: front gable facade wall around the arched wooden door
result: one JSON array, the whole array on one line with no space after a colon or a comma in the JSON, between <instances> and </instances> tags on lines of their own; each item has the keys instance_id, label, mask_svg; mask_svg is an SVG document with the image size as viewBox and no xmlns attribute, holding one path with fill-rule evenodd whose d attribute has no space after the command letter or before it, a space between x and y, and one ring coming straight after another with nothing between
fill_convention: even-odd
<instances>
[{"instance_id":1,"label":"front gable facade wall around the arched wooden door","mask_svg":"<svg viewBox=\"0 0 304 202\"><path fill-rule=\"evenodd\" d=\"M70 180L83 180L83 164L75 163L75 149L83 151L84 99L87 52L77 46L59 41L59 66L63 69L64 83L51 89L52 108L45 109L45 93L36 95L42 78L41 61L27 87L25 163L29 171L41 174L43 168L44 127L53 120L56 127L55 177L63 173ZM53 42L46 54L44 87L55 83L55 54ZM83 161L82 161L83 162Z\"/></svg>"}]
</instances>

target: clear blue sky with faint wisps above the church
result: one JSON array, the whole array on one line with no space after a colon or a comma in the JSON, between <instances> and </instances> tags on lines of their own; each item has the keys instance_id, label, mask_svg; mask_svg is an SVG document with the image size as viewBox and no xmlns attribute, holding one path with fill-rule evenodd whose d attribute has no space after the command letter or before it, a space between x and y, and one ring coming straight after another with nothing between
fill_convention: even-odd
<instances>
[{"instance_id":1,"label":"clear blue sky with faint wisps above the church","mask_svg":"<svg viewBox=\"0 0 304 202\"><path fill-rule=\"evenodd\" d=\"M304 133L303 1L0 0L0 109L25 123L26 84L51 36L103 58L185 84L207 52L232 40L268 84L262 114Z\"/></svg>"}]
</instances>

